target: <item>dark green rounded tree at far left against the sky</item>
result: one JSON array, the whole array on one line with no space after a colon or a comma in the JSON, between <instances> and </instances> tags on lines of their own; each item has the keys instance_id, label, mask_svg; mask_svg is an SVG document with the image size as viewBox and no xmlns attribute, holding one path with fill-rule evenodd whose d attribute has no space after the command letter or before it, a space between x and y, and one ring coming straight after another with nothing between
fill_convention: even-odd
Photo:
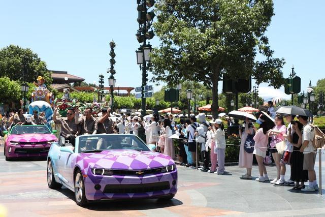
<instances>
[{"instance_id":1,"label":"dark green rounded tree at far left against the sky","mask_svg":"<svg viewBox=\"0 0 325 217\"><path fill-rule=\"evenodd\" d=\"M27 74L23 74L23 61L26 61ZM43 76L46 84L52 83L51 72L46 68L37 53L29 48L21 48L17 45L9 45L0 50L0 77L8 77L11 80L26 82L36 81L38 76ZM49 85L47 85L49 86Z\"/></svg>"}]
</instances>

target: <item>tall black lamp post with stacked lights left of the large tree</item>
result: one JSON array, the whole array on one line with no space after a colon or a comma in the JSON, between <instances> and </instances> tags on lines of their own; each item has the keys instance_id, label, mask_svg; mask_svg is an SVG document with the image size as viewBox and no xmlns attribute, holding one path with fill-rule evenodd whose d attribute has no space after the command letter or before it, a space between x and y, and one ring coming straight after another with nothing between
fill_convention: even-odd
<instances>
[{"instance_id":1,"label":"tall black lamp post with stacked lights left of the large tree","mask_svg":"<svg viewBox=\"0 0 325 217\"><path fill-rule=\"evenodd\" d=\"M155 14L153 11L148 12L148 9L153 7L154 0L137 0L138 11L138 23L139 29L136 34L139 43L143 43L136 51L137 63L142 68L142 84L141 84L141 114L146 115L146 98L145 98L145 86L148 81L147 63L150 63L150 52L152 50L151 45L146 44L146 40L150 40L154 37L153 30L151 28L153 18Z\"/></svg>"}]
</instances>

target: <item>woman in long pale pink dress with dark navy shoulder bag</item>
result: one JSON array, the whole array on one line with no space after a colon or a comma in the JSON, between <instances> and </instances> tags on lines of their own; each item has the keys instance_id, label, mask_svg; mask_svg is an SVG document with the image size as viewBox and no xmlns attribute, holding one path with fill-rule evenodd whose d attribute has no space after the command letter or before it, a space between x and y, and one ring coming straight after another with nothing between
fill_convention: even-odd
<instances>
[{"instance_id":1,"label":"woman in long pale pink dress with dark navy shoulder bag","mask_svg":"<svg viewBox=\"0 0 325 217\"><path fill-rule=\"evenodd\" d=\"M245 167L247 173L245 175L242 175L242 179L251 179L251 173L252 173L252 165L253 165L253 149L251 148L251 151L246 148L246 140L247 137L250 137L251 139L254 136L254 129L253 129L252 122L246 118L245 120L245 127L239 126L239 137L241 138L240 143L240 150L239 150L239 167ZM249 144L250 141L248 142Z\"/></svg>"}]
</instances>

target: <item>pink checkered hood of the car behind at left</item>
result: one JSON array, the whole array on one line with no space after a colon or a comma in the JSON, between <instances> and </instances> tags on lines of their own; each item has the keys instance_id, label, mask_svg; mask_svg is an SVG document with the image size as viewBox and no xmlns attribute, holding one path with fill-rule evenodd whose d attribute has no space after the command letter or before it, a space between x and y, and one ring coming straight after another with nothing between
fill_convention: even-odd
<instances>
[{"instance_id":1,"label":"pink checkered hood of the car behind at left","mask_svg":"<svg viewBox=\"0 0 325 217\"><path fill-rule=\"evenodd\" d=\"M47 142L57 141L57 138L53 134L12 134L8 136L8 141L13 142Z\"/></svg>"}]
</instances>

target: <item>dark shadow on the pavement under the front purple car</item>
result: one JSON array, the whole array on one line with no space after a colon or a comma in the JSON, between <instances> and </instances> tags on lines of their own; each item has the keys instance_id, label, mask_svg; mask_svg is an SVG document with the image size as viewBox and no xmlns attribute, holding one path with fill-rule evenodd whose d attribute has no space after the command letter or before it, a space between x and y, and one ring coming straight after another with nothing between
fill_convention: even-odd
<instances>
[{"instance_id":1,"label":"dark shadow on the pavement under the front purple car","mask_svg":"<svg viewBox=\"0 0 325 217\"><path fill-rule=\"evenodd\" d=\"M62 187L57 191L61 192L64 196L75 201L75 195L72 191ZM166 208L171 206L182 205L182 201L175 198L171 200L161 199L116 199L116 200L102 200L96 202L90 202L85 209L96 211L121 211L121 210L146 210L156 208Z\"/></svg>"}]
</instances>

